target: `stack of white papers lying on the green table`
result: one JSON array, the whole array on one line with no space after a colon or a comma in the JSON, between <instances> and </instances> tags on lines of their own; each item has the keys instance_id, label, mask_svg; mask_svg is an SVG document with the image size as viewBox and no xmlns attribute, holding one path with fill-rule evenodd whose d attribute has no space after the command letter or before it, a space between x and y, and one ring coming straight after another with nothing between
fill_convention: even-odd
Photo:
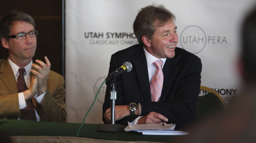
<instances>
[{"instance_id":1,"label":"stack of white papers lying on the green table","mask_svg":"<svg viewBox=\"0 0 256 143\"><path fill-rule=\"evenodd\" d=\"M174 130L173 124L133 124L128 122L124 131L136 131L143 135L187 135L188 132Z\"/></svg>"}]
</instances>

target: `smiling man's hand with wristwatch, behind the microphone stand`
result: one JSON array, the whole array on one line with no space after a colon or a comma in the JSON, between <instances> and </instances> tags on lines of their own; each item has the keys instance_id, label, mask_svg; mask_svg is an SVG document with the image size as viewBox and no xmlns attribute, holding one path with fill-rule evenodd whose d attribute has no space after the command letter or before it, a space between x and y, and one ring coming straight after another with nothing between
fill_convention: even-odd
<instances>
[{"instance_id":1,"label":"smiling man's hand with wristwatch, behind the microphone stand","mask_svg":"<svg viewBox=\"0 0 256 143\"><path fill-rule=\"evenodd\" d=\"M110 123L111 122L111 108L106 109L105 114L104 114L104 118L106 123ZM130 110L128 105L118 105L115 106L115 121L120 120L121 118L130 115Z\"/></svg>"}]
</instances>

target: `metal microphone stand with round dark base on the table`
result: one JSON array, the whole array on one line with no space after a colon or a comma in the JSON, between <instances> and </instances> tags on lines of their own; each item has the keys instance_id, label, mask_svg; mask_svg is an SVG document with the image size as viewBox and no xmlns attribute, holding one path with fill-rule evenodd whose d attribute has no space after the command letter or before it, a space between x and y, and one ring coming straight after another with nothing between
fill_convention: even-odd
<instances>
[{"instance_id":1,"label":"metal microphone stand with round dark base on the table","mask_svg":"<svg viewBox=\"0 0 256 143\"><path fill-rule=\"evenodd\" d=\"M97 130L103 132L122 132L125 126L115 124L115 100L116 100L116 79L111 80L110 90L110 108L111 108L111 124L100 125Z\"/></svg>"}]
</instances>

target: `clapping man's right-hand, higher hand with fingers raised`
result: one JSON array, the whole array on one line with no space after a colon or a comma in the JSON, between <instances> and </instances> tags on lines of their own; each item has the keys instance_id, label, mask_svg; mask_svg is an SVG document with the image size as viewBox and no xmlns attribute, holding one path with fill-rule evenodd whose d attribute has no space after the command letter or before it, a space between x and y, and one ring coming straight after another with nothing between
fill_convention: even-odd
<instances>
[{"instance_id":1,"label":"clapping man's right-hand, higher hand with fingers raised","mask_svg":"<svg viewBox=\"0 0 256 143\"><path fill-rule=\"evenodd\" d=\"M49 59L45 56L46 63L40 61L40 60L35 60L37 64L32 64L33 67L35 67L38 71L31 69L30 71L35 74L35 76L38 78L38 95L41 95L42 93L45 93L47 90L47 78L50 73L50 68L51 68L51 63Z\"/></svg>"}]
</instances>

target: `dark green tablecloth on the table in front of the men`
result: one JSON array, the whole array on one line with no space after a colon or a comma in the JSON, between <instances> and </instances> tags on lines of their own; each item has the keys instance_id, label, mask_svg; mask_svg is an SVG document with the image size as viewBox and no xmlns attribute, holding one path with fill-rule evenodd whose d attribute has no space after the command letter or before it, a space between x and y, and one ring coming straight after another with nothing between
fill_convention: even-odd
<instances>
[{"instance_id":1,"label":"dark green tablecloth on the table in front of the men","mask_svg":"<svg viewBox=\"0 0 256 143\"><path fill-rule=\"evenodd\" d=\"M36 122L26 120L0 120L0 132L10 136L73 136L75 137L81 124ZM176 136L142 135L137 132L100 132L97 127L101 124L84 124L78 137L122 140L122 141L156 141L170 142Z\"/></svg>"}]
</instances>

